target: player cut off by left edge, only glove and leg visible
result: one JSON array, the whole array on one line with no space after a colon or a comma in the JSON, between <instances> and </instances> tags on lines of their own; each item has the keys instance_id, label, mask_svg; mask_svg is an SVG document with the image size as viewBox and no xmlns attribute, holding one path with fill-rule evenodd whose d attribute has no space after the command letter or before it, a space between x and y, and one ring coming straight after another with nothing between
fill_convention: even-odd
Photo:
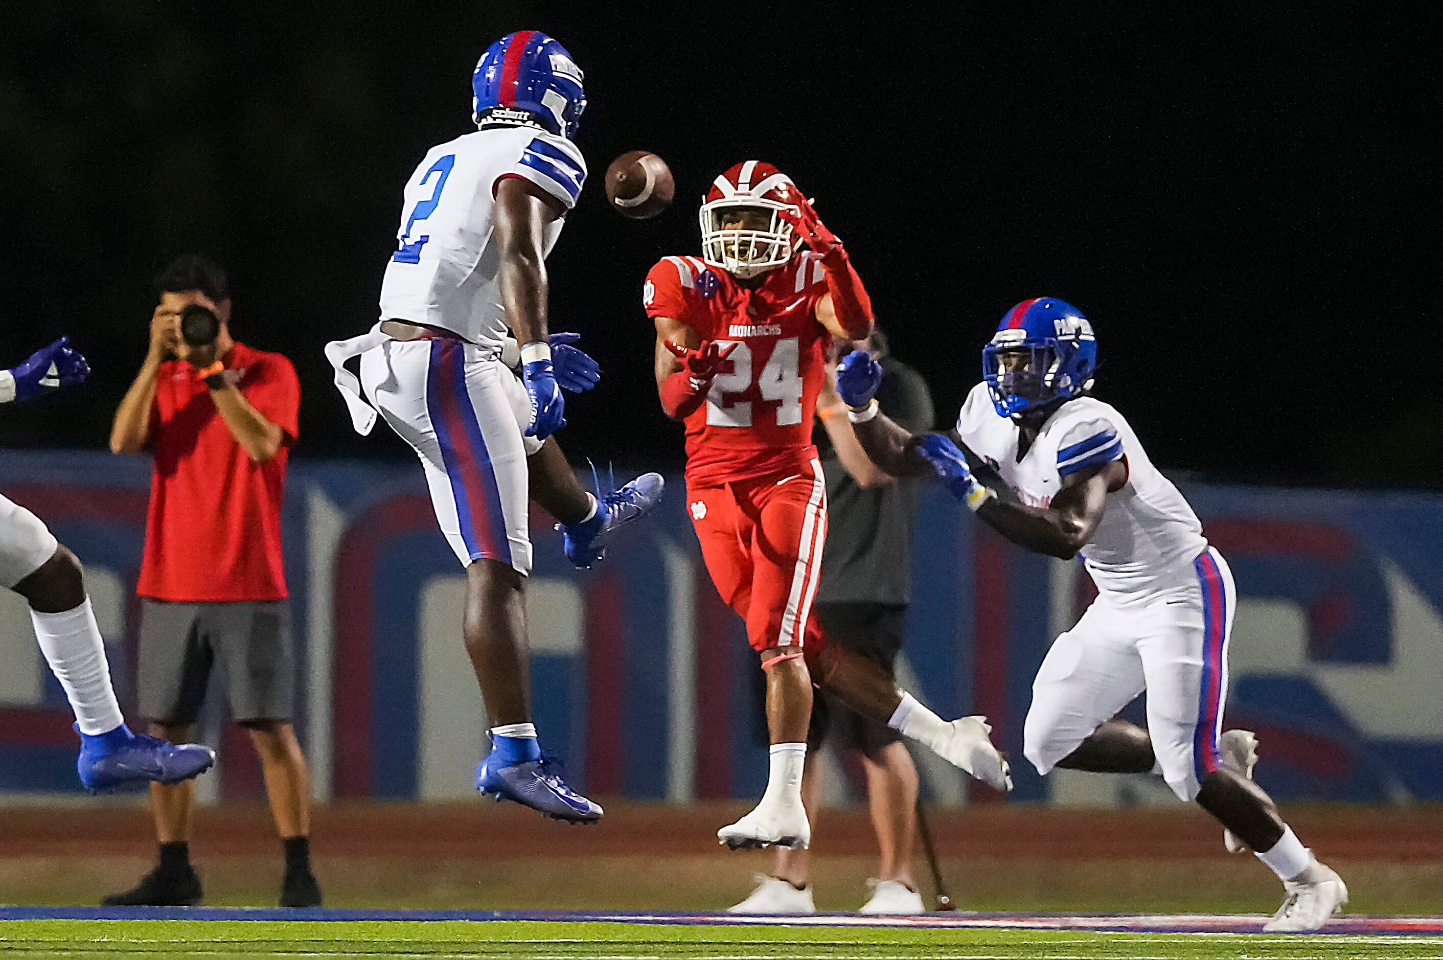
<instances>
[{"instance_id":1,"label":"player cut off by left edge, only glove and leg visible","mask_svg":"<svg viewBox=\"0 0 1443 960\"><path fill-rule=\"evenodd\" d=\"M0 403L30 400L82 383L89 365L61 338L19 367L0 370ZM91 791L120 784L175 784L215 764L201 743L131 733L110 683L105 641L85 593L81 562L25 507L0 497L0 586L30 605L30 624L51 673L65 690L81 735L75 769Z\"/></svg>"}]
</instances>

